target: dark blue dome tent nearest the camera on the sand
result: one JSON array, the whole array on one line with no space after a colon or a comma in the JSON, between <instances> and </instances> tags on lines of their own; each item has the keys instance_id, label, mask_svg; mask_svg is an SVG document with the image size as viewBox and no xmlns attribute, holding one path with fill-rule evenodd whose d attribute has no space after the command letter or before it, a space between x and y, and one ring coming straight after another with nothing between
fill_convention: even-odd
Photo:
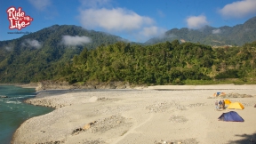
<instances>
[{"instance_id":1,"label":"dark blue dome tent nearest the camera on the sand","mask_svg":"<svg viewBox=\"0 0 256 144\"><path fill-rule=\"evenodd\" d=\"M228 113L223 113L218 119L220 121L227 122L244 122L244 119L239 116L236 111L229 111Z\"/></svg>"}]
</instances>

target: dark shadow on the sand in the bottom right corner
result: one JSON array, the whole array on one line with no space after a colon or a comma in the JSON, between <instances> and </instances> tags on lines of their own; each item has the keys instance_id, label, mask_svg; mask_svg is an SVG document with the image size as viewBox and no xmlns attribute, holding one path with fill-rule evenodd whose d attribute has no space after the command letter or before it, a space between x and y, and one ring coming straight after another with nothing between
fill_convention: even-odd
<instances>
[{"instance_id":1,"label":"dark shadow on the sand in the bottom right corner","mask_svg":"<svg viewBox=\"0 0 256 144\"><path fill-rule=\"evenodd\" d=\"M241 137L241 140L229 140L228 143L232 144L256 144L256 132L249 134L243 134L243 135L236 135L237 137Z\"/></svg>"}]
</instances>

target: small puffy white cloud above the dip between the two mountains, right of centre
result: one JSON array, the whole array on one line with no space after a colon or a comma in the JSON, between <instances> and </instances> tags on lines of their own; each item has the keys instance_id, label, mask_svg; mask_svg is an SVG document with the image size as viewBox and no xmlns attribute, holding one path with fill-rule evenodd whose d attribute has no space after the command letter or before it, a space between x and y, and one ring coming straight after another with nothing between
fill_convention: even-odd
<instances>
[{"instance_id":1,"label":"small puffy white cloud above the dip between the two mountains, right of centre","mask_svg":"<svg viewBox=\"0 0 256 144\"><path fill-rule=\"evenodd\" d=\"M206 20L204 15L200 16L191 16L187 19L188 28L202 28L207 25L209 22Z\"/></svg>"}]
</instances>

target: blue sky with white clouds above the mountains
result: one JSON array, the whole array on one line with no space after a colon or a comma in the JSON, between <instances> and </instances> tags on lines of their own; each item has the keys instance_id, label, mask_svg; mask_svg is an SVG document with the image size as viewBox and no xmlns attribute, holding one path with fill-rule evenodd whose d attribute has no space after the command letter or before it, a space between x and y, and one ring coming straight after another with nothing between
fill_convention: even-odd
<instances>
[{"instance_id":1,"label":"blue sky with white clouds above the mountains","mask_svg":"<svg viewBox=\"0 0 256 144\"><path fill-rule=\"evenodd\" d=\"M254 16L256 0L0 0L0 41L58 24L143 43L172 28L208 25L216 28L212 33L217 34L222 26L243 24ZM20 25L16 27L15 21ZM90 41L84 36L70 36L68 40L77 39L80 43Z\"/></svg>"}]
</instances>

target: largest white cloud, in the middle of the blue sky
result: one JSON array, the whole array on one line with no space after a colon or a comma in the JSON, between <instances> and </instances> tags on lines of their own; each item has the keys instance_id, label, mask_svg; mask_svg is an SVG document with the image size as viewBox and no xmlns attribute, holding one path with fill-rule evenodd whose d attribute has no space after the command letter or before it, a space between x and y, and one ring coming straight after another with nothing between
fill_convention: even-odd
<instances>
[{"instance_id":1,"label":"largest white cloud, in the middle of the blue sky","mask_svg":"<svg viewBox=\"0 0 256 144\"><path fill-rule=\"evenodd\" d=\"M145 42L148 38L164 33L153 19L124 8L113 8L112 0L80 0L77 19L83 28L97 29L132 41ZM111 8L112 7L112 8ZM159 16L164 17L162 11Z\"/></svg>"}]
</instances>

